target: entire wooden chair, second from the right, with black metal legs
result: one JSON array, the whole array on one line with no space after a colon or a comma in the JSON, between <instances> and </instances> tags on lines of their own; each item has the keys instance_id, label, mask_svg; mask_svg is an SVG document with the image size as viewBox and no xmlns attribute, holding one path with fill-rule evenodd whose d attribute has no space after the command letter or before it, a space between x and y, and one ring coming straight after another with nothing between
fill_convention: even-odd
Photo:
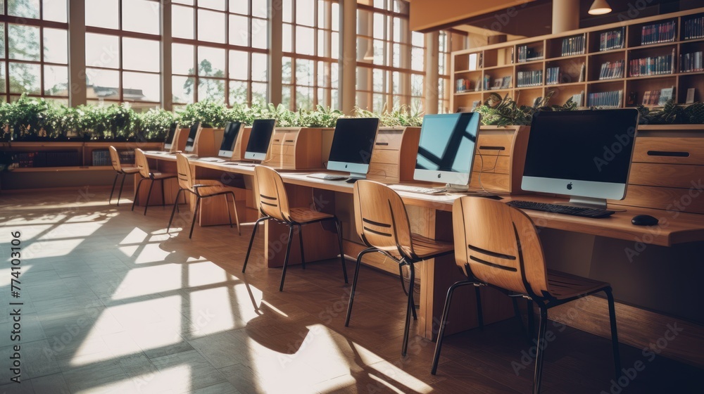
<instances>
[{"instance_id":1,"label":"entire wooden chair, second from the right, with black metal legs","mask_svg":"<svg viewBox=\"0 0 704 394\"><path fill-rule=\"evenodd\" d=\"M435 241L425 236L413 234L410 231L406 205L403 205L401 197L395 191L384 184L365 180L357 181L354 185L353 193L357 234L367 248L362 250L357 256L345 326L349 326L352 314L362 256L371 252L383 253L398 262L398 269L401 273L401 286L403 291L408 294L406 328L403 331L403 346L401 348L401 355L406 355L410 315L413 314L413 319L417 319L415 301L413 300L414 265L416 262L453 253L453 246L451 243ZM403 272L401 269L403 269L404 265L408 265L410 271L408 291L406 291L406 286L403 284Z\"/></svg>"}]
</instances>

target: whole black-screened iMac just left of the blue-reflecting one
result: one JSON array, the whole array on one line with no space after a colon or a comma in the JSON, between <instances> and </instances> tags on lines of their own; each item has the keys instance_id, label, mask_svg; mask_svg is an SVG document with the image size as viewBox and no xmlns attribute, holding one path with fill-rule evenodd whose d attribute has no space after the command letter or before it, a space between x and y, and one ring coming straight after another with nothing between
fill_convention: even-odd
<instances>
[{"instance_id":1,"label":"whole black-screened iMac just left of the blue-reflecting one","mask_svg":"<svg viewBox=\"0 0 704 394\"><path fill-rule=\"evenodd\" d=\"M339 118L332 136L327 169L350 172L351 178L366 178L378 129L377 117Z\"/></svg>"}]
</instances>

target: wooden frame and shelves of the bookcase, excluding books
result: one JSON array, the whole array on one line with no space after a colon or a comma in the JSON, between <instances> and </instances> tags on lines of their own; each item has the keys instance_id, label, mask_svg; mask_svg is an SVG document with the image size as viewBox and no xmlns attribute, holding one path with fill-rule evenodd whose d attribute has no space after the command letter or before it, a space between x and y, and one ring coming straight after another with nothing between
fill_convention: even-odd
<instances>
[{"instance_id":1,"label":"wooden frame and shelves of the bookcase, excluding books","mask_svg":"<svg viewBox=\"0 0 704 394\"><path fill-rule=\"evenodd\" d=\"M624 23L612 23L573 30L560 34L530 37L513 42L504 42L475 49L455 51L451 56L451 74L453 77L453 94L451 108L453 111L470 110L475 104L481 105L491 93L503 98L507 95L519 105L532 105L536 98L552 93L551 104L562 105L575 94L582 94L580 107L590 106L590 94L607 94L621 91L614 98L617 107L636 106L643 103L646 91L660 91L674 87L673 98L677 103L685 103L687 90L694 88L695 101L704 101L704 71L680 71L680 56L685 53L704 51L704 38L685 38L684 24L693 18L704 16L704 8L689 11L657 15L631 20ZM658 23L672 23L674 31L670 42L641 44L644 27ZM622 32L622 47L601 50L601 34L614 31ZM563 39L581 37L581 46L572 48L562 56ZM672 73L658 75L631 76L629 62L640 58L673 56ZM606 62L623 62L622 75L611 79L601 76L602 65ZM547 84L548 69L558 68L560 78ZM536 74L530 74L535 72ZM519 87L518 77L537 75L534 86ZM498 84L498 80L510 77L510 83ZM464 81L464 83L463 83ZM486 89L488 82L489 88ZM633 103L629 104L629 97ZM658 106L648 104L647 106Z\"/></svg>"}]
</instances>

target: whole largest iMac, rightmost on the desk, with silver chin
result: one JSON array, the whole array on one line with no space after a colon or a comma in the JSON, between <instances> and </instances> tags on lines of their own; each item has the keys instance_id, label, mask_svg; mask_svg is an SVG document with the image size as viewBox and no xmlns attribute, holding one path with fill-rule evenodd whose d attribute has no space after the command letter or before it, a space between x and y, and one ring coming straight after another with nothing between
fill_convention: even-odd
<instances>
[{"instance_id":1,"label":"whole largest iMac, rightmost on the desk, with silver chin","mask_svg":"<svg viewBox=\"0 0 704 394\"><path fill-rule=\"evenodd\" d=\"M522 189L570 196L571 205L605 208L622 200L638 110L541 111L533 116Z\"/></svg>"}]
</instances>

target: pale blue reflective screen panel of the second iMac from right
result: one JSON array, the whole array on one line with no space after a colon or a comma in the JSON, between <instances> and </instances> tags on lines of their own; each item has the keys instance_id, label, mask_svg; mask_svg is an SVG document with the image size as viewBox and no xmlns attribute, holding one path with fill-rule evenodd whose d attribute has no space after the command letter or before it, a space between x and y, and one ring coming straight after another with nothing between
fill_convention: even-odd
<instances>
[{"instance_id":1,"label":"pale blue reflective screen panel of the second iMac from right","mask_svg":"<svg viewBox=\"0 0 704 394\"><path fill-rule=\"evenodd\" d=\"M419 170L469 172L478 129L479 113L425 115L415 167Z\"/></svg>"}]
</instances>

